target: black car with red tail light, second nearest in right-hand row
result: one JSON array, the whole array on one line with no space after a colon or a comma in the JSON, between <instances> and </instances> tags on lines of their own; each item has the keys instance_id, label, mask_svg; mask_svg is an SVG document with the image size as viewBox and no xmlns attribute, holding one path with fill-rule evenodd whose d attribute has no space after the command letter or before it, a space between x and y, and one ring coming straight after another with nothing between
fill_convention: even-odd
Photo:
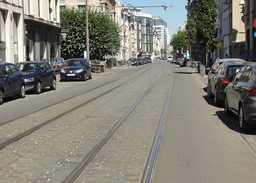
<instances>
[{"instance_id":1,"label":"black car with red tail light, second nearest in right-hand row","mask_svg":"<svg viewBox=\"0 0 256 183\"><path fill-rule=\"evenodd\" d=\"M214 96L214 104L216 106L224 102L224 90L229 84L228 78L235 76L236 73L246 64L243 61L222 62L220 67L212 70L212 75L208 75L207 96Z\"/></svg>"}]
</instances>

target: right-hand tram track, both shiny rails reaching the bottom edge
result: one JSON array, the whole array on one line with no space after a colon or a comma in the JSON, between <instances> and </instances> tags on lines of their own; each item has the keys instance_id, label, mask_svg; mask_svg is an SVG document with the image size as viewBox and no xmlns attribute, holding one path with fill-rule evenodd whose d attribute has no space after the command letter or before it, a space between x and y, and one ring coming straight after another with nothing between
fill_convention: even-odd
<instances>
[{"instance_id":1,"label":"right-hand tram track, both shiny rails reaching the bottom edge","mask_svg":"<svg viewBox=\"0 0 256 183\"><path fill-rule=\"evenodd\" d=\"M171 70L170 66L169 69ZM84 171L84 169L91 163L93 158L100 152L100 150L105 146L105 144L109 141L109 139L116 133L118 128L123 125L126 119L131 115L131 113L135 110L135 108L140 104L140 102L145 98L148 92L155 86L158 82L159 78L162 76L162 72L160 73L159 77L155 81L154 84L143 94L143 96L134 104L131 109L123 116L123 118L116 123L116 125L109 131L109 133L98 143L91 152L83 159L83 161L69 174L69 176L63 181L63 183L75 182L79 175ZM171 70L172 73L172 70ZM141 183L144 182L151 182L153 178L154 168L156 165L158 150L161 143L161 138L163 135L164 129L164 121L170 101L171 90L172 90L173 81L171 81L169 91L167 93L163 109L161 111L161 115L159 121L157 123L156 132L153 138L152 146L149 150L149 155L146 161L145 169L142 173Z\"/></svg>"}]
</instances>

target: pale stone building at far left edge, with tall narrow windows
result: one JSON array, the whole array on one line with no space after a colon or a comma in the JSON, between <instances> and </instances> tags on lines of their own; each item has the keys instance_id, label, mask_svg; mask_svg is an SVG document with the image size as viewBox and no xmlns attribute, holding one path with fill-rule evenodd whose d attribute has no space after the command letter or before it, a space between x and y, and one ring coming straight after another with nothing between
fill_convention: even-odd
<instances>
[{"instance_id":1,"label":"pale stone building at far left edge, with tall narrow windows","mask_svg":"<svg viewBox=\"0 0 256 183\"><path fill-rule=\"evenodd\" d=\"M25 61L22 2L0 0L0 62Z\"/></svg>"}]
</instances>

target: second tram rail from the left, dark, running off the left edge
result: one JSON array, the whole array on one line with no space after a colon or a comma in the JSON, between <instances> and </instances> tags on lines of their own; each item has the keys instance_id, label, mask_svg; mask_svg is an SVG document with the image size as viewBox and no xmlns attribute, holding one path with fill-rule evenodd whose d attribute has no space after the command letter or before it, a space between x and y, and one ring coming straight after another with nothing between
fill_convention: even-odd
<instances>
[{"instance_id":1,"label":"second tram rail from the left, dark, running off the left edge","mask_svg":"<svg viewBox=\"0 0 256 183\"><path fill-rule=\"evenodd\" d=\"M154 67L154 66L152 66L152 67ZM152 68L152 67L151 67L151 68ZM151 68L149 68L149 69L151 69ZM148 70L149 70L149 69L148 69ZM45 122L43 122L43 123L41 123L41 124L35 126L34 128L31 128L31 129L29 129L29 130L27 130L27 131L25 131L25 132L23 132L23 133L21 133L21 134L19 134L19 135L16 135L15 137L13 137L13 138L11 138L11 139L9 139L9 140L7 140L7 141L1 143L1 144L0 144L0 150L2 150L4 147L8 146L9 144L14 143L14 142L20 140L21 138L23 138L23 137L25 137L25 136L30 135L31 133L35 132L36 130L42 128L44 125L46 125L46 124L48 124L48 123L50 123L50 122L52 122L52 121L55 121L56 119L59 119L59 118L63 117L64 115L68 114L68 113L73 112L74 110L78 109L79 107L82 107L82 106L84 106L84 105L86 105L86 104L88 104L88 103L90 103L90 102L92 102L92 101L94 101L94 100L96 100L96 99L102 97L103 95L109 93L110 91L115 90L116 88L119 88L120 86L122 86L122 85L128 83L129 81L131 81L131 80L133 80L133 79L139 77L140 75L142 75L142 74L144 74L144 73L145 73L145 72L139 74L139 75L136 76L136 77L133 77L132 79L130 79L130 80L128 80L128 81L126 81L126 82L124 82L124 83L122 83L122 84L119 84L118 86L116 86L116 87L114 87L114 88L112 88L112 89L110 89L110 90L108 90L108 91L106 91L106 92L104 92L104 93L98 95L97 97L94 97L94 98L92 98L92 99L90 99L90 100L88 100L88 101L86 101L86 102L84 102L84 103L82 103L82 104L80 104L80 105L78 105L78 106L76 106L76 107L73 107L72 109L69 109L68 111L66 111L66 112L64 112L64 113L61 113L60 115L58 115L58 116L56 116L56 117L53 117L53 118L51 118L50 120L47 120L47 121L45 121ZM128 75L127 75L127 76L128 76Z\"/></svg>"}]
</instances>

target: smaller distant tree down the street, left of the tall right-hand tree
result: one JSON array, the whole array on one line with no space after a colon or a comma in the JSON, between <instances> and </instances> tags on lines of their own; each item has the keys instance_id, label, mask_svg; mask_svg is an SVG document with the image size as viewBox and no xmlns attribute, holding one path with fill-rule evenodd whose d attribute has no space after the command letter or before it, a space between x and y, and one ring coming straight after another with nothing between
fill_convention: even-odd
<instances>
[{"instance_id":1,"label":"smaller distant tree down the street, left of the tall right-hand tree","mask_svg":"<svg viewBox=\"0 0 256 183\"><path fill-rule=\"evenodd\" d=\"M176 52L176 50L183 52L187 51L189 45L186 32L178 32L177 34L173 34L170 45L172 46L173 52Z\"/></svg>"}]
</instances>

